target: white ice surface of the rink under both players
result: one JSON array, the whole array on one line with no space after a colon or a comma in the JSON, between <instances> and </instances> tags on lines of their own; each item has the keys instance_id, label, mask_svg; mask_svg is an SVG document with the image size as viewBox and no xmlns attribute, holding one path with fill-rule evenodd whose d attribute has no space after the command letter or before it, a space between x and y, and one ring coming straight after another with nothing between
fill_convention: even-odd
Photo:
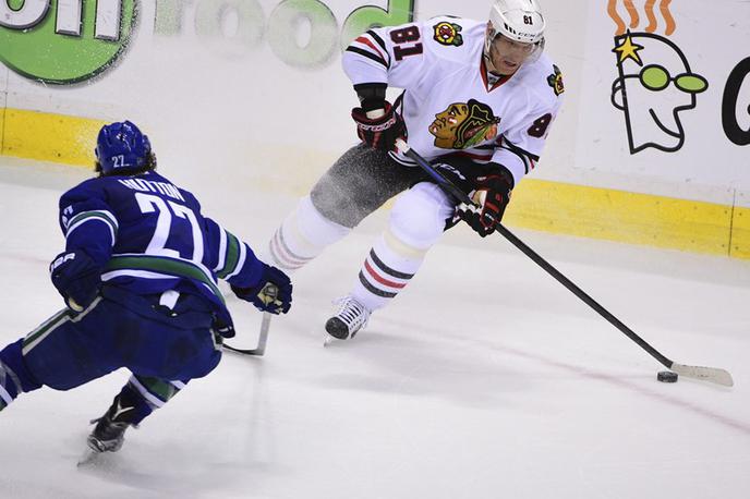
<instances>
[{"instance_id":1,"label":"white ice surface of the rink under both players","mask_svg":"<svg viewBox=\"0 0 750 499\"><path fill-rule=\"evenodd\" d=\"M47 277L57 200L86 173L1 161L4 344L61 306ZM185 187L258 249L293 202ZM367 329L324 349L330 301L386 216L294 276L264 357L226 354L96 465L75 466L87 422L128 373L22 395L0 414L0 497L750 497L748 261L516 231L675 362L728 369L733 389L657 382L662 366L622 333L499 236L462 227ZM231 305L233 344L254 346L261 314Z\"/></svg>"}]
</instances>

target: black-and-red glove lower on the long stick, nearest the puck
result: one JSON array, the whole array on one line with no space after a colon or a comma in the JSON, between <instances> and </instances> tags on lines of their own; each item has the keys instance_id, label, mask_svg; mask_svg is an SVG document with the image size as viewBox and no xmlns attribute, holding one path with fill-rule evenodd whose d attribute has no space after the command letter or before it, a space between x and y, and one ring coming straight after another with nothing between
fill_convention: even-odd
<instances>
[{"instance_id":1,"label":"black-and-red glove lower on the long stick, nearest the puck","mask_svg":"<svg viewBox=\"0 0 750 499\"><path fill-rule=\"evenodd\" d=\"M476 187L471 195L476 207L464 204L458 207L458 216L482 238L495 232L496 226L503 220L512 190L512 181L508 175L477 178Z\"/></svg>"}]
</instances>

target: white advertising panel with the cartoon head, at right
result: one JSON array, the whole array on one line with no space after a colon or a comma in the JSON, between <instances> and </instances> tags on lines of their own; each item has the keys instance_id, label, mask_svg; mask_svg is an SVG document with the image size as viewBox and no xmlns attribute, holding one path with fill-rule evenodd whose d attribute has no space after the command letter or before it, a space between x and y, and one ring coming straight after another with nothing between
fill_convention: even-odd
<instances>
[{"instance_id":1,"label":"white advertising panel with the cartoon head, at right","mask_svg":"<svg viewBox=\"0 0 750 499\"><path fill-rule=\"evenodd\" d=\"M742 78L739 93L734 94L735 106L723 108L730 73L742 60L750 58L747 42L750 39L750 4L717 1L711 2L706 11L705 2L673 2L674 27L669 29L658 9L654 14L654 28L650 27L643 2L634 3L639 7L636 11L639 17L630 32L633 44L643 47L638 50L641 64L628 60L624 64L625 74L637 75L649 65L666 68L673 77L685 73L687 68L679 59L679 51L690 71L703 76L709 87L691 100L691 95L675 87L674 81L668 88L653 92L630 76L626 84L627 112L633 146L653 144L631 154L626 113L609 102L613 98L621 100L621 94L613 92L613 84L619 77L617 56L612 51L616 47L617 26L597 2L589 2L589 50L580 89L585 99L580 107L574 168L583 177L598 172L631 178L631 182L637 179L641 185L636 191L646 194L669 194L664 192L669 190L665 182L675 184L672 190L676 197L691 197L686 196L686 188L690 186L694 186L694 192L700 192L702 186L725 191L749 190L750 146L733 143L722 119L723 113L731 115L737 126L748 131L750 136L750 75ZM618 14L626 23L630 22L631 17L621 4ZM750 59L747 63L750 64ZM694 107L685 109L690 106ZM656 123L670 131L681 126L682 136L672 136L660 130ZM677 151L660 149L677 147L680 141L684 144ZM649 183L653 185L649 186ZM725 192L728 203L724 204L731 203L731 194ZM719 202L705 192L697 197Z\"/></svg>"}]
</instances>

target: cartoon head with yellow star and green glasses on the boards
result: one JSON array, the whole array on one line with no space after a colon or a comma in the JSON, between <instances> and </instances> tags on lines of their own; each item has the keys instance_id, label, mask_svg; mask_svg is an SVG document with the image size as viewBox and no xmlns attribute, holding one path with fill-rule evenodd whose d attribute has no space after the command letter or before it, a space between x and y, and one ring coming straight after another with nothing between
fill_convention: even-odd
<instances>
[{"instance_id":1,"label":"cartoon head with yellow star and green glasses on the boards","mask_svg":"<svg viewBox=\"0 0 750 499\"><path fill-rule=\"evenodd\" d=\"M679 113L693 109L709 82L693 73L670 40L653 33L615 37L619 76L612 84L612 104L625 113L630 154L653 147L667 153L685 144Z\"/></svg>"}]
</instances>

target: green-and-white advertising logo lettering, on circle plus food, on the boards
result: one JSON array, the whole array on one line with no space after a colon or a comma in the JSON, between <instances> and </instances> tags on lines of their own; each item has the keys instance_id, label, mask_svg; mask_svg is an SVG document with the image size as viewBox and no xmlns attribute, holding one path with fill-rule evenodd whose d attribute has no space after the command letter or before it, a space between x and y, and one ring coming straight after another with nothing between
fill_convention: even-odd
<instances>
[{"instance_id":1,"label":"green-and-white advertising logo lettering, on circle plus food, on the boards","mask_svg":"<svg viewBox=\"0 0 750 499\"><path fill-rule=\"evenodd\" d=\"M137 0L0 0L0 61L43 83L89 80L123 53L137 7ZM265 39L286 64L316 69L371 27L411 22L414 0L359 7L341 26L320 0L282 0L269 13L257 0L156 0L154 33L182 34L188 9L195 13L190 28L219 53L243 56ZM223 32L228 15L237 26L231 34Z\"/></svg>"}]
</instances>

